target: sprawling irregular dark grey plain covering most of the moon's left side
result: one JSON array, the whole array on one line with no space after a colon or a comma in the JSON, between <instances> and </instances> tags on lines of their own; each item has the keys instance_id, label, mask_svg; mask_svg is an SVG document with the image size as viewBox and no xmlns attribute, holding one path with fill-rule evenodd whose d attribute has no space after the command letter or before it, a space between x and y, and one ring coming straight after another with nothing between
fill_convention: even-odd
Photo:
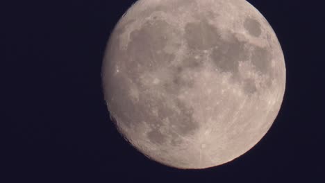
<instances>
[{"instance_id":1,"label":"sprawling irregular dark grey plain covering most of the moon's left side","mask_svg":"<svg viewBox=\"0 0 325 183\"><path fill-rule=\"evenodd\" d=\"M119 28L119 30L123 29ZM158 31L160 34L156 34ZM146 90L152 89L144 86L140 79L143 73L155 72L160 67L166 67L170 60L174 59L174 54L163 51L168 41L174 39L168 37L168 35L172 35L171 31L176 32L177 30L173 30L166 21L148 21L140 30L134 30L131 33L131 41L126 50L119 49L119 45L111 47L113 51L110 51L111 55L108 55L111 59L108 69L110 69L110 73L114 73L114 66L119 65L122 74L110 78L104 77L106 80L103 83L110 91L106 98L110 108L114 109L113 116L118 116L127 128L134 128L142 122L147 123L151 128L151 131L147 133L147 138L151 143L177 145L182 141L179 136L186 137L199 128L199 123L192 118L194 109L177 98L174 98L174 103L179 112L168 105L161 104L167 100L165 97L178 94L181 87L192 86L190 80L181 78L179 69L185 68L171 68L173 79L163 84L167 94L165 97L146 93ZM117 31L115 33L119 34ZM161 52L157 53L156 51ZM130 99L131 86L140 90L138 101ZM157 109L158 116L153 114L153 108ZM165 128L166 134L172 134L174 137L169 141L167 141L166 134L160 132L160 128L165 125L163 121L166 119L169 120L169 127ZM170 128L170 126L174 126L174 128Z\"/></svg>"}]
</instances>

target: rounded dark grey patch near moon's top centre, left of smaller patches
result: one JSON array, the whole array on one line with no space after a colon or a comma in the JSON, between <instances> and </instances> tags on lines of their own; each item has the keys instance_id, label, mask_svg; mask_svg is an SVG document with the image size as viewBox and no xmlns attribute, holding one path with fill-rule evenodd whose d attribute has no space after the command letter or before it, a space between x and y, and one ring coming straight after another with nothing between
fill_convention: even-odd
<instances>
[{"instance_id":1,"label":"rounded dark grey patch near moon's top centre, left of smaller patches","mask_svg":"<svg viewBox=\"0 0 325 183\"><path fill-rule=\"evenodd\" d=\"M185 40L190 49L210 49L219 41L217 30L206 20L185 25Z\"/></svg>"}]
</instances>

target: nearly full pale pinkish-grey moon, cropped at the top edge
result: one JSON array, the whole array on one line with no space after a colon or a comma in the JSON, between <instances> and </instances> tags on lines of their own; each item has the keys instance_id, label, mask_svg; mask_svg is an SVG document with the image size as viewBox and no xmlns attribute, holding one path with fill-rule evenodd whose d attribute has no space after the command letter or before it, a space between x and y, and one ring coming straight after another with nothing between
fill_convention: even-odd
<instances>
[{"instance_id":1,"label":"nearly full pale pinkish-grey moon, cropped at the top edge","mask_svg":"<svg viewBox=\"0 0 325 183\"><path fill-rule=\"evenodd\" d=\"M281 45L244 0L140 0L106 46L103 94L123 137L160 164L231 162L260 141L285 92Z\"/></svg>"}]
</instances>

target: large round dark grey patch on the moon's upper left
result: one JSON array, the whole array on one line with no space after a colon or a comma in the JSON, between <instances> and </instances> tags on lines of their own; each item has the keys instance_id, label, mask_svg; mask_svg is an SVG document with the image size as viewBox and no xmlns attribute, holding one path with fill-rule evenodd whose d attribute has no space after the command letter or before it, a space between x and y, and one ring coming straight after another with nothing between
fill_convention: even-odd
<instances>
[{"instance_id":1,"label":"large round dark grey patch on the moon's upper left","mask_svg":"<svg viewBox=\"0 0 325 183\"><path fill-rule=\"evenodd\" d=\"M140 30L133 30L126 53L131 57L128 60L130 63L126 64L129 69L141 67L139 69L143 71L153 71L174 59L174 54L162 51L169 40L175 40L172 38L174 30L170 27L166 21L155 20L146 22ZM177 49L180 44L174 43L172 46Z\"/></svg>"}]
</instances>

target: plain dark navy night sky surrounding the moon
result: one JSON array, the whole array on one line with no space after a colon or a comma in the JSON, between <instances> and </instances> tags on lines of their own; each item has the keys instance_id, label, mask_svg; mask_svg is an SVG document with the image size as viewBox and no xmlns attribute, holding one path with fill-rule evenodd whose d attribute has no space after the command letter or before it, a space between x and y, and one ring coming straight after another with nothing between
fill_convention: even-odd
<instances>
[{"instance_id":1,"label":"plain dark navy night sky surrounding the moon","mask_svg":"<svg viewBox=\"0 0 325 183\"><path fill-rule=\"evenodd\" d=\"M110 122L101 62L134 1L1 1L0 182L324 182L324 4L249 1L285 54L287 87L267 135L206 170L153 162ZM3 135L4 134L4 135Z\"/></svg>"}]
</instances>

